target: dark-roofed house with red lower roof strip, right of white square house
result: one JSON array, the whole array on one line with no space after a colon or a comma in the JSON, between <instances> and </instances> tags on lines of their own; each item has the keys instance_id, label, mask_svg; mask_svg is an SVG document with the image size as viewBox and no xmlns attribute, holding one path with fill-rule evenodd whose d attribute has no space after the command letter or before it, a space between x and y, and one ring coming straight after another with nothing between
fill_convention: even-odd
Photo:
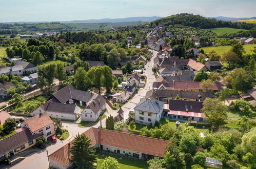
<instances>
[{"instance_id":1,"label":"dark-roofed house with red lower roof strip, right of white square house","mask_svg":"<svg viewBox=\"0 0 256 169\"><path fill-rule=\"evenodd\" d=\"M170 100L167 116L174 120L204 122L205 114L201 113L202 101Z\"/></svg>"}]
</instances>

